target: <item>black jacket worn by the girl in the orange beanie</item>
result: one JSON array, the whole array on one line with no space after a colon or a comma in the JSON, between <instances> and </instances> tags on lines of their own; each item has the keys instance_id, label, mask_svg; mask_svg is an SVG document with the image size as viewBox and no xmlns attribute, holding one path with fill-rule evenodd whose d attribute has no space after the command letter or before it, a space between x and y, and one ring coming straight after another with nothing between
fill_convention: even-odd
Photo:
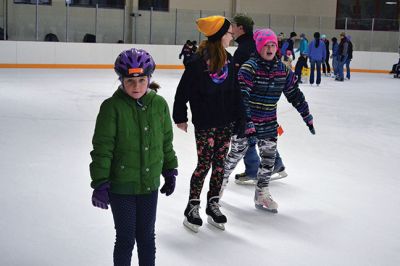
<instances>
[{"instance_id":1,"label":"black jacket worn by the girl in the orange beanie","mask_svg":"<svg viewBox=\"0 0 400 266\"><path fill-rule=\"evenodd\" d=\"M188 121L187 102L197 130L228 126L242 118L241 92L232 56L228 53L228 76L222 83L214 83L209 74L205 60L195 54L176 90L172 115L176 124Z\"/></svg>"}]
</instances>

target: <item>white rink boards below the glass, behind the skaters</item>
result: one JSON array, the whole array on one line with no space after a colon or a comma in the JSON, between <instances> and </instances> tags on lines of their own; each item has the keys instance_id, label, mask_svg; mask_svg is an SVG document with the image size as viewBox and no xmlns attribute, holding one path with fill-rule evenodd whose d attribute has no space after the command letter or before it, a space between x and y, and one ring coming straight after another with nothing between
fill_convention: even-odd
<instances>
[{"instance_id":1,"label":"white rink boards below the glass, behind the skaters","mask_svg":"<svg viewBox=\"0 0 400 266\"><path fill-rule=\"evenodd\" d=\"M181 45L105 44L0 41L0 66L7 64L71 64L112 65L117 55L131 47L151 53L157 65L181 65L178 55ZM234 52L236 48L228 50ZM354 51L351 67L362 71L390 70L398 61L397 53Z\"/></svg>"}]
</instances>

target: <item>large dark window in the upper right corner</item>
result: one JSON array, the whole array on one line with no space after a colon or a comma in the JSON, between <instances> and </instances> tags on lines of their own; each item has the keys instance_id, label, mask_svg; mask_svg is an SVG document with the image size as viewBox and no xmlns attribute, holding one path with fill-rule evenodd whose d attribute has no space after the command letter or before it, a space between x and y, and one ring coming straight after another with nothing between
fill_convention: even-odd
<instances>
[{"instance_id":1,"label":"large dark window in the upper right corner","mask_svg":"<svg viewBox=\"0 0 400 266\"><path fill-rule=\"evenodd\" d=\"M385 0L338 0L336 8L336 29L399 30L399 1Z\"/></svg>"}]
</instances>

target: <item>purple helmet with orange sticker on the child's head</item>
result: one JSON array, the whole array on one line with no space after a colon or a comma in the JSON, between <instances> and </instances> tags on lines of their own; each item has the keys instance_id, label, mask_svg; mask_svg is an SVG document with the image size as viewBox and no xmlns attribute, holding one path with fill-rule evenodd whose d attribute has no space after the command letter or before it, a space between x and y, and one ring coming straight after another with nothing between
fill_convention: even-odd
<instances>
[{"instance_id":1,"label":"purple helmet with orange sticker on the child's head","mask_svg":"<svg viewBox=\"0 0 400 266\"><path fill-rule=\"evenodd\" d=\"M155 68L151 55L136 48L120 53L114 63L114 70L120 78L151 76Z\"/></svg>"}]
</instances>

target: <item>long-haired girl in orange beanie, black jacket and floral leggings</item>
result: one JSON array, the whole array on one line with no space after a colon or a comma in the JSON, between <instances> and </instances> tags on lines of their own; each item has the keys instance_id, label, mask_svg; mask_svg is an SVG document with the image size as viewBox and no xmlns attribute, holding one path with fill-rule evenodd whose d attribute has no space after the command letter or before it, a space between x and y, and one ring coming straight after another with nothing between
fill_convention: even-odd
<instances>
[{"instance_id":1,"label":"long-haired girl in orange beanie, black jacket and floral leggings","mask_svg":"<svg viewBox=\"0 0 400 266\"><path fill-rule=\"evenodd\" d=\"M208 222L223 230L227 221L219 209L219 192L232 126L243 111L232 56L225 50L232 41L231 23L222 16L200 18L196 23L207 40L201 42L182 75L175 94L173 119L179 129L187 132L189 103L198 163L190 180L184 225L198 232L203 224L199 214L200 194L211 167Z\"/></svg>"}]
</instances>

